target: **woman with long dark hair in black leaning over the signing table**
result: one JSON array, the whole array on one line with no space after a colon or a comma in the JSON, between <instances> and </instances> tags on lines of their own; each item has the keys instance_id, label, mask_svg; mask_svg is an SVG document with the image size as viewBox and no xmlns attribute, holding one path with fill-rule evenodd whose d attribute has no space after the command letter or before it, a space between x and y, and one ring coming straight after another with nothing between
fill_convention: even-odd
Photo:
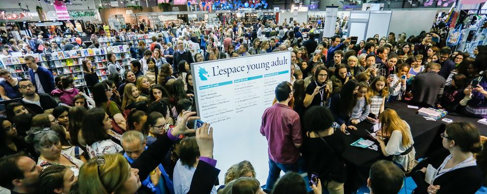
<instances>
[{"instance_id":1,"label":"woman with long dark hair in black leaning over the signing table","mask_svg":"<svg viewBox=\"0 0 487 194\"><path fill-rule=\"evenodd\" d=\"M357 129L351 125L350 119L352 111L357 104L357 96L355 95L359 89L359 83L355 79L350 80L343 85L340 93L335 93L331 96L330 110L335 117L335 122L340 125L341 132L345 129Z\"/></svg>"}]
</instances>

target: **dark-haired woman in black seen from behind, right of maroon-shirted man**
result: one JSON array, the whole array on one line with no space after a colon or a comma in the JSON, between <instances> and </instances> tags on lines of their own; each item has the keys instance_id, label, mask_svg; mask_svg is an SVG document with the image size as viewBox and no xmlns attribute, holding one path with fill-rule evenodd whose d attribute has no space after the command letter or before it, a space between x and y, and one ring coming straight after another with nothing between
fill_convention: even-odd
<instances>
[{"instance_id":1,"label":"dark-haired woman in black seen from behind, right of maroon-shirted man","mask_svg":"<svg viewBox=\"0 0 487 194\"><path fill-rule=\"evenodd\" d=\"M303 138L302 153L309 173L317 173L329 193L343 193L345 149L343 135L334 133L333 115L323 106L309 108L303 117L308 131Z\"/></svg>"}]
</instances>

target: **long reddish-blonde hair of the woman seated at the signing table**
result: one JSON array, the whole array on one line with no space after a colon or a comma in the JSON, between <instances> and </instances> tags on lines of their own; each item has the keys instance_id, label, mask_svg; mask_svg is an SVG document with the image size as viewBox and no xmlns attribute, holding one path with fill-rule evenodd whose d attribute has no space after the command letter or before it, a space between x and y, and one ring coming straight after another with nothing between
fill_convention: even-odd
<instances>
[{"instance_id":1,"label":"long reddish-blonde hair of the woman seated at the signing table","mask_svg":"<svg viewBox=\"0 0 487 194\"><path fill-rule=\"evenodd\" d=\"M402 146L408 147L411 143L411 138L409 137L410 130L406 125L406 122L397 115L396 111L393 109L386 109L379 115L380 132L382 137L389 140L391 134L394 130L401 131L402 134Z\"/></svg>"}]
</instances>

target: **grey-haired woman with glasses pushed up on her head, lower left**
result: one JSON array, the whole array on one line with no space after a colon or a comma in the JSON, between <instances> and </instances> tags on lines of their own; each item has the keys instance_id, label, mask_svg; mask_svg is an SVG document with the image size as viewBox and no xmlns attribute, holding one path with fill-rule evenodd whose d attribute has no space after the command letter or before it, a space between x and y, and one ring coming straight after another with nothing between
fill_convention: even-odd
<instances>
[{"instance_id":1,"label":"grey-haired woman with glasses pushed up on her head, lower left","mask_svg":"<svg viewBox=\"0 0 487 194\"><path fill-rule=\"evenodd\" d=\"M70 156L62 150L58 134L51 128L32 127L25 140L41 154L37 165L47 168L53 165L68 166L78 176L83 161Z\"/></svg>"}]
</instances>

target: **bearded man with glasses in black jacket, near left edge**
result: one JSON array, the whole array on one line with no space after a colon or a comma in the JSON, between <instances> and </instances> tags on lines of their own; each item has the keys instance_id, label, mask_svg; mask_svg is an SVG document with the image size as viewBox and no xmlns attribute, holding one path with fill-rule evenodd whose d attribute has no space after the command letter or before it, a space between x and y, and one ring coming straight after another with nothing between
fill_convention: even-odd
<instances>
[{"instance_id":1,"label":"bearded man with glasses in black jacket, near left edge","mask_svg":"<svg viewBox=\"0 0 487 194\"><path fill-rule=\"evenodd\" d=\"M36 93L36 88L32 81L21 79L19 81L19 91L22 93L22 104L32 116L44 113L45 110L57 107L56 101L47 93Z\"/></svg>"}]
</instances>

